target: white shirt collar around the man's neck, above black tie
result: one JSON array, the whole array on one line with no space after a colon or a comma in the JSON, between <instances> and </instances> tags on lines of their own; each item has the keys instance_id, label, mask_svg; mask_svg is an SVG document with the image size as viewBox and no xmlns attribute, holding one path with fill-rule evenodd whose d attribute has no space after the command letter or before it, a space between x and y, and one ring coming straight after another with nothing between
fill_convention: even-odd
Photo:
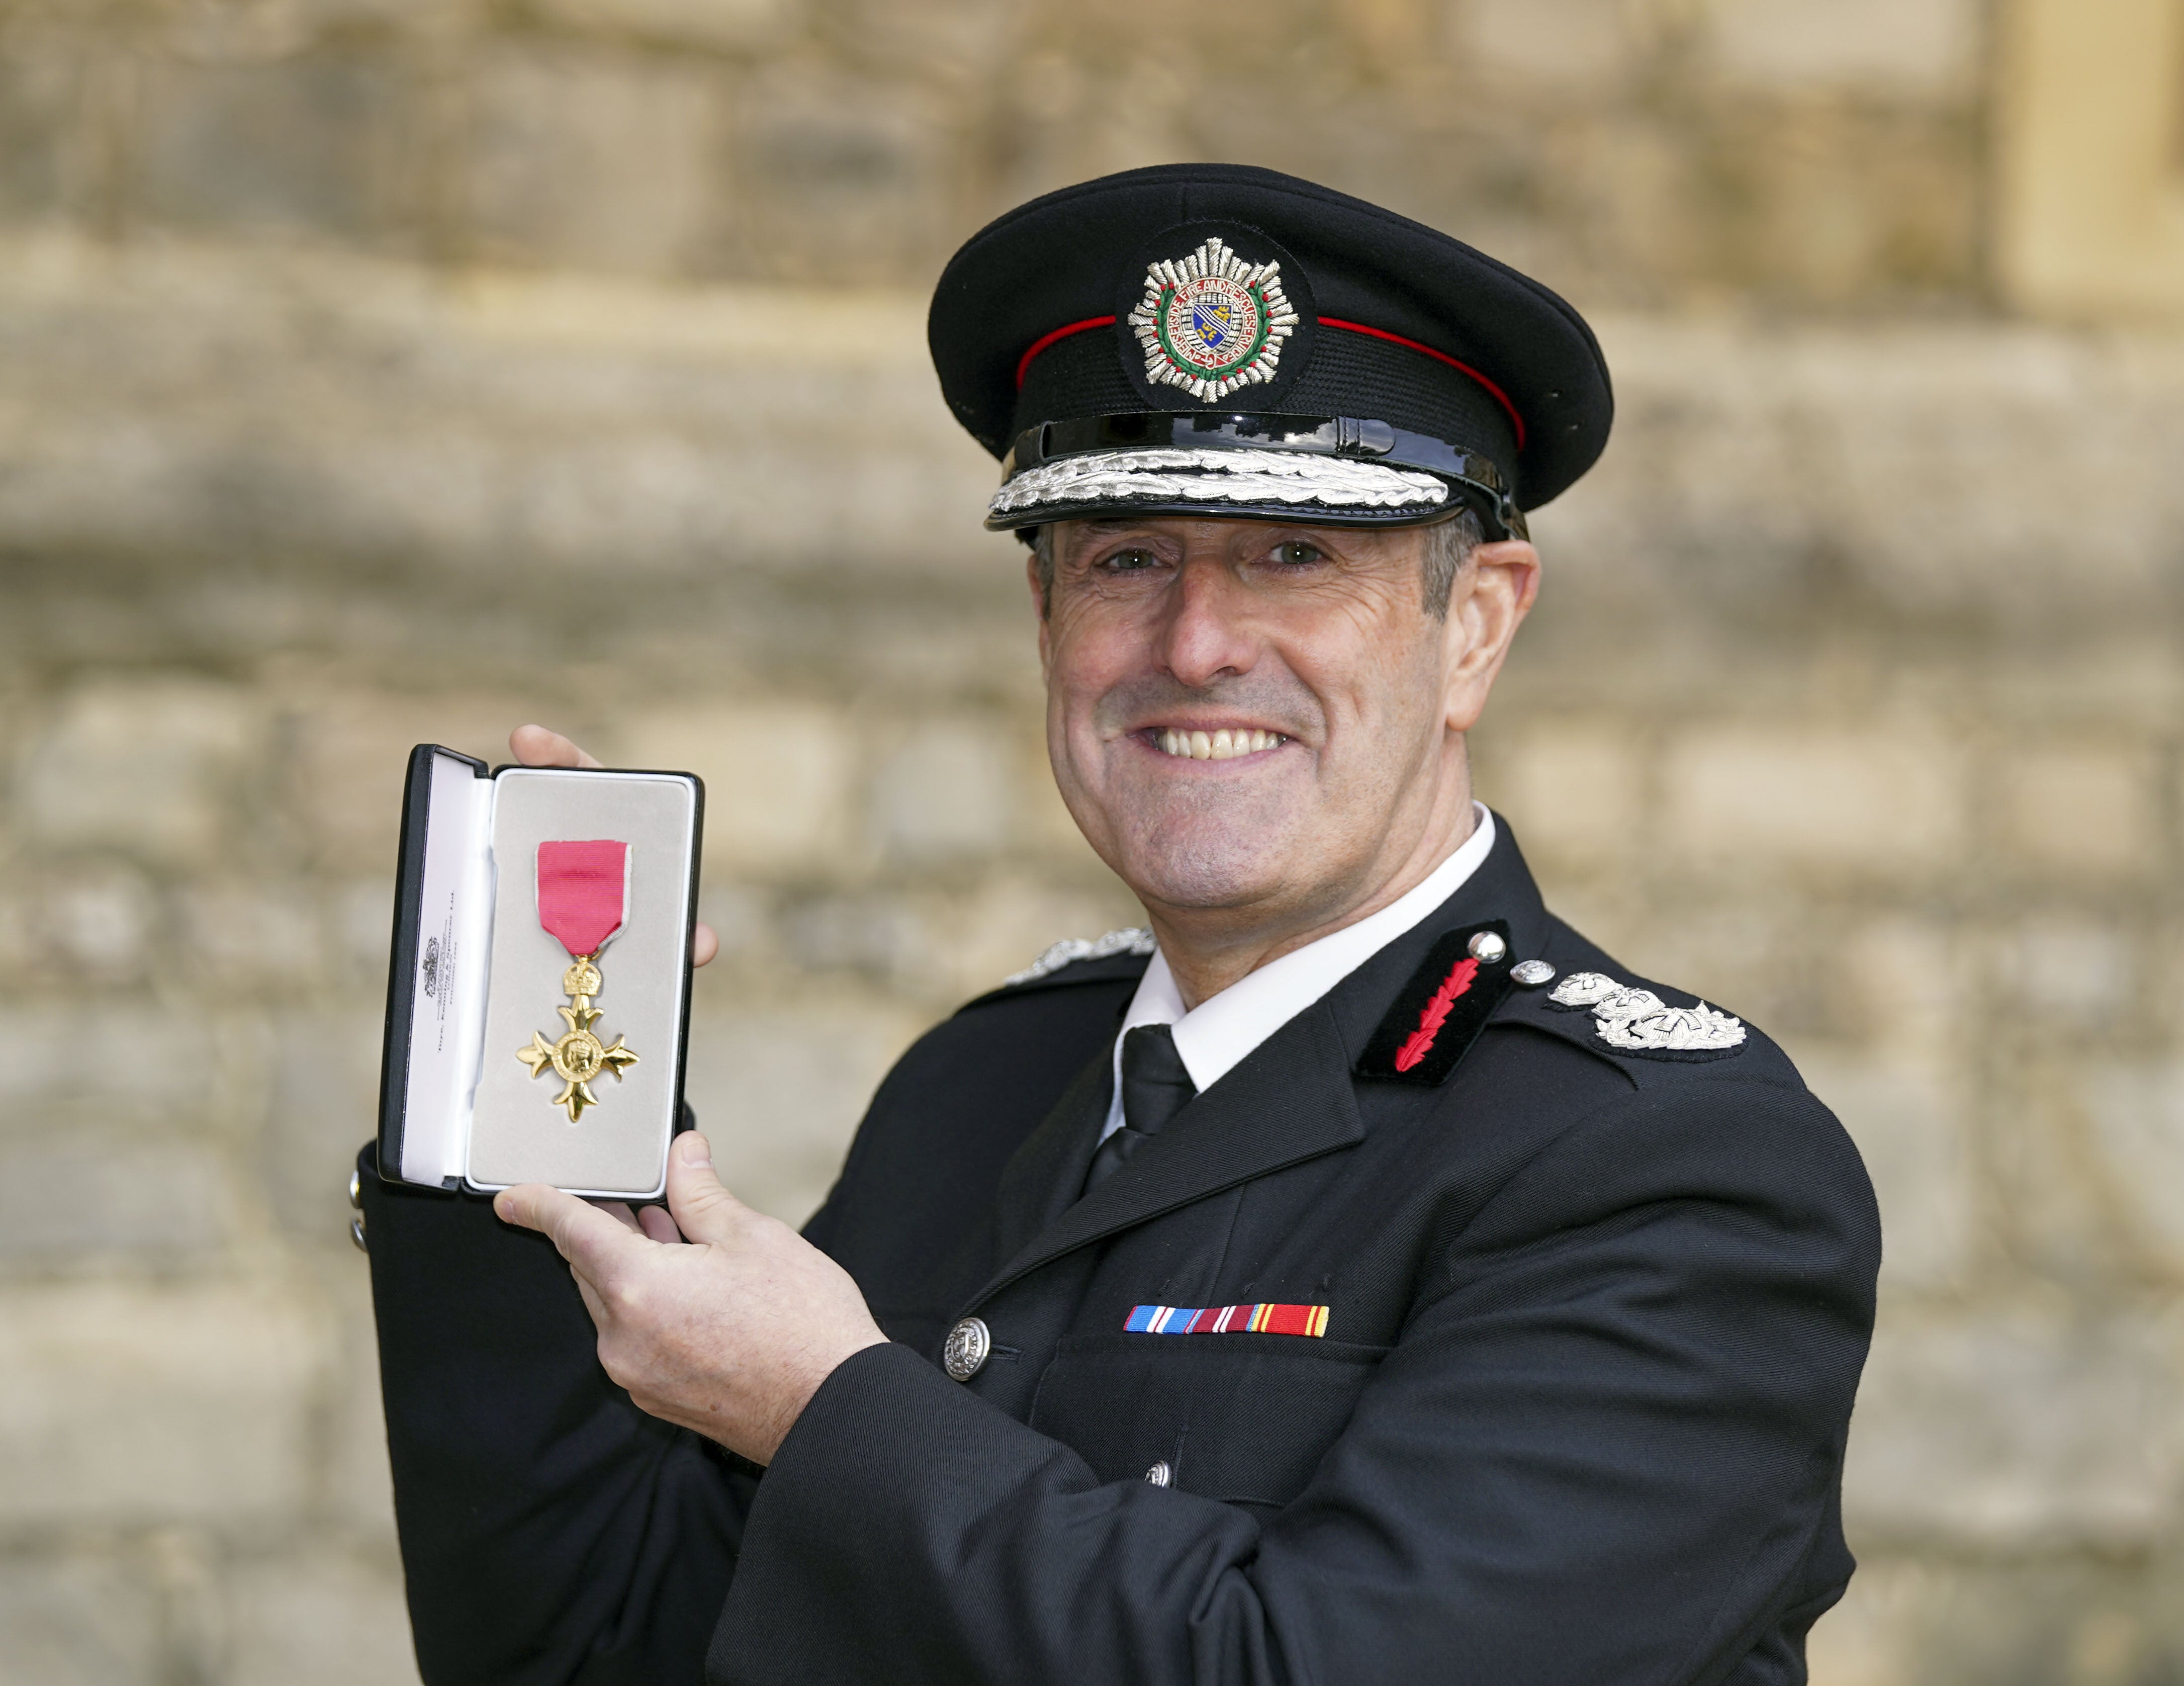
<instances>
[{"instance_id":1,"label":"white shirt collar around the man's neck, above black tie","mask_svg":"<svg viewBox=\"0 0 2184 1686\"><path fill-rule=\"evenodd\" d=\"M1208 996L1188 1013L1175 974L1168 972L1168 957L1155 952L1138 981L1129 1011L1123 1016L1123 1031L1140 1024L1173 1024L1175 1053L1184 1057L1184 1070L1199 1085L1199 1094L1210 1090L1236 1066L1243 1064L1260 1042L1280 1031L1289 1020L1326 996L1337 983L1356 972L1365 961L1396 941L1400 935L1441 906L1487 858L1494 847L1494 815L1485 804L1474 802L1476 819L1472 834L1463 839L1455 854L1437 865L1413 889L1398 895L1378 913L1358 919L1354 926L1330 930L1319 941L1293 948L1278 961L1267 961L1256 972L1247 972L1219 996ZM1114 1070L1107 1094L1105 1140L1123 1127L1123 1035L1114 1040Z\"/></svg>"}]
</instances>

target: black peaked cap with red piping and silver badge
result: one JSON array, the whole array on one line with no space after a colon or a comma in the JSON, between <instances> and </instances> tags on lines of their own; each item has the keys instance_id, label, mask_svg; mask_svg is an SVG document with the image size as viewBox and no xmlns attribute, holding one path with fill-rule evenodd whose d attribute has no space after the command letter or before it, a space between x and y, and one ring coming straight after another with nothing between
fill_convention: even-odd
<instances>
[{"instance_id":1,"label":"black peaked cap with red piping and silver badge","mask_svg":"<svg viewBox=\"0 0 2184 1686\"><path fill-rule=\"evenodd\" d=\"M1195 369L1177 363L1162 325L1182 325L1182 336L1197 321L1219 336L1227 317L1164 317L1155 297L1177 295L1158 290L1162 273L1186 288L1203 273L1243 284L1273 275L1249 299L1227 288L1236 319L1245 330L1256 323L1269 349L1249 369L1227 371L1225 384L1192 387ZM1538 509L1592 467L1614 417L1601 347L1553 290L1406 216L1243 164L1162 164L1018 205L948 262L928 341L948 408L1005 459L989 526L1164 507L1144 485L1120 489L1114 476L1013 513L1005 498L1026 470L1061 456L1096 474L1101 454L1114 461L1138 448L1142 459L1147 448L1206 443L1315 452L1319 465L1306 470L1315 474L1391 463L1446 483L1374 509L1332 509L1299 489L1273 504L1227 491L1225 513L1415 524L1452 513L1455 491L1481 507L1489 533L1520 533L1518 511ZM1238 345L1236 356L1251 349ZM1310 439L1273 437L1251 417L1328 426ZM1328 456L1352 463L1326 470ZM1441 502L1428 509L1431 498ZM1210 500L1192 489L1173 507L1214 513Z\"/></svg>"}]
</instances>

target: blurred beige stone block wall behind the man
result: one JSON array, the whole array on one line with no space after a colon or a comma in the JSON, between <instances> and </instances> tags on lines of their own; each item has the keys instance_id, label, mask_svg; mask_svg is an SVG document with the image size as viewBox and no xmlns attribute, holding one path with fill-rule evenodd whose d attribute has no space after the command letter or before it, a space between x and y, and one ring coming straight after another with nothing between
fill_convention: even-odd
<instances>
[{"instance_id":1,"label":"blurred beige stone block wall behind the man","mask_svg":"<svg viewBox=\"0 0 2184 1686\"><path fill-rule=\"evenodd\" d=\"M2184 339L1998 304L2001 17L0 7L0 1675L413 1679L341 1195L411 743L705 775L690 1083L791 1219L924 1024L1131 922L922 290L1190 155L1599 319L1481 786L1874 1168L1815 1677L2184 1675Z\"/></svg>"}]
</instances>

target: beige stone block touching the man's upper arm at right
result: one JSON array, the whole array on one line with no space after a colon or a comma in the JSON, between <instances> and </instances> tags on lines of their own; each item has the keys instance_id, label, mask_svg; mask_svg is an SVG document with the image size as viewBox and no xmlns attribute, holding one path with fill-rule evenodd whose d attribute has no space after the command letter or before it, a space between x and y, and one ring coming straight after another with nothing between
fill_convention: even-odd
<instances>
[{"instance_id":1,"label":"beige stone block touching the man's upper arm at right","mask_svg":"<svg viewBox=\"0 0 2184 1686\"><path fill-rule=\"evenodd\" d=\"M1933 1057L1841 1046L1791 1050L1859 1144L1880 1203L1880 1282L1961 1286L1974 1271L1979 1186L1963 1077Z\"/></svg>"}]
</instances>

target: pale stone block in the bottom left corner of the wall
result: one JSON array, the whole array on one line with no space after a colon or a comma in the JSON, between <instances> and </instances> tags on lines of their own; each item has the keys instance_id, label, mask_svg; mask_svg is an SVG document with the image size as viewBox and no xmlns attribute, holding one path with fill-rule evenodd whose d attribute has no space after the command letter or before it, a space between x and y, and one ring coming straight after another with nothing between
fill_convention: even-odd
<instances>
[{"instance_id":1,"label":"pale stone block in the bottom left corner of the wall","mask_svg":"<svg viewBox=\"0 0 2184 1686\"><path fill-rule=\"evenodd\" d=\"M159 1605L127 1562L70 1553L0 1564L9 1686L159 1686Z\"/></svg>"}]
</instances>

